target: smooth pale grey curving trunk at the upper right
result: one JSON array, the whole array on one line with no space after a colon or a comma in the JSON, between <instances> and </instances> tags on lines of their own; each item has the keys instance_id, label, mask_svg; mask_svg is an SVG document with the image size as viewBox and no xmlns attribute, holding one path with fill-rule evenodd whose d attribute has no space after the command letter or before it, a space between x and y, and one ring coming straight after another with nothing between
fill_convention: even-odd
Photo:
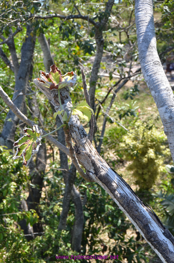
<instances>
[{"instance_id":1,"label":"smooth pale grey curving trunk at the upper right","mask_svg":"<svg viewBox=\"0 0 174 263\"><path fill-rule=\"evenodd\" d=\"M135 21L142 73L157 105L174 161L174 95L156 49L153 0L135 0Z\"/></svg>"}]
</instances>

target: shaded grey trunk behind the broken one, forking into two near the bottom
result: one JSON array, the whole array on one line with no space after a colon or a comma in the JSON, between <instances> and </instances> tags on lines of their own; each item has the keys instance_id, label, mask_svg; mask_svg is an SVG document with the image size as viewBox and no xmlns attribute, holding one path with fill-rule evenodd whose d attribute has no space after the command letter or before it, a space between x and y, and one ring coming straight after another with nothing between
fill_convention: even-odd
<instances>
[{"instance_id":1,"label":"shaded grey trunk behind the broken one, forking into two near the bottom","mask_svg":"<svg viewBox=\"0 0 174 263\"><path fill-rule=\"evenodd\" d=\"M40 34L38 37L39 43L42 48L43 56L44 56L44 66L46 72L50 71L50 66L54 64L49 44L46 37L43 34ZM51 104L51 106L53 106ZM54 106L52 107L53 113L55 112ZM56 118L56 125L57 128L61 125L61 120L59 117ZM57 131L58 134L58 141L65 145L65 133L63 128ZM59 222L59 230L65 229L66 227L66 219L69 212L69 204L70 198L72 197L73 203L75 205L75 221L73 226L73 234L72 234L72 249L75 251L80 251L81 248L81 237L83 233L83 206L81 202L81 197L79 191L76 189L74 185L74 180L76 176L76 168L73 164L71 164L71 168L68 168L68 158L67 155L59 150L60 154L60 168L62 170L64 182L66 184L65 187L65 194L63 199L63 206L62 206L62 213L60 216Z\"/></svg>"}]
</instances>

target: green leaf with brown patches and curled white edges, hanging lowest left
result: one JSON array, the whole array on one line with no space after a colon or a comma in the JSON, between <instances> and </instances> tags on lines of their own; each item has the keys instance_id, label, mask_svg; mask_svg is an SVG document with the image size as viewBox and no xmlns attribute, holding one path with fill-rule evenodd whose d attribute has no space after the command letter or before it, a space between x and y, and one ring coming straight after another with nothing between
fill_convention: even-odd
<instances>
[{"instance_id":1,"label":"green leaf with brown patches and curled white edges, hanging lowest left","mask_svg":"<svg viewBox=\"0 0 174 263\"><path fill-rule=\"evenodd\" d=\"M23 156L23 165L27 166L32 155L36 154L39 150L42 130L38 130L37 125L34 125L33 130L25 128L23 131L24 136L13 144L14 147L18 147L13 160Z\"/></svg>"}]
</instances>

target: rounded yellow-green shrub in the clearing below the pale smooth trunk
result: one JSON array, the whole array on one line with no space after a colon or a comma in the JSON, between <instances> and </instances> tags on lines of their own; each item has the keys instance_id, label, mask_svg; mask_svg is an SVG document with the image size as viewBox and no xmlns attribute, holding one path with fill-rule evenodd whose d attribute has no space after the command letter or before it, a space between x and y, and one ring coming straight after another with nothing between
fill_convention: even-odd
<instances>
[{"instance_id":1,"label":"rounded yellow-green shrub in the clearing below the pale smooth trunk","mask_svg":"<svg viewBox=\"0 0 174 263\"><path fill-rule=\"evenodd\" d=\"M150 189L162 171L163 162L170 154L165 141L165 134L153 124L142 125L140 122L136 122L122 138L120 147L124 150L125 159L132 161L128 169L133 171L141 190Z\"/></svg>"}]
</instances>

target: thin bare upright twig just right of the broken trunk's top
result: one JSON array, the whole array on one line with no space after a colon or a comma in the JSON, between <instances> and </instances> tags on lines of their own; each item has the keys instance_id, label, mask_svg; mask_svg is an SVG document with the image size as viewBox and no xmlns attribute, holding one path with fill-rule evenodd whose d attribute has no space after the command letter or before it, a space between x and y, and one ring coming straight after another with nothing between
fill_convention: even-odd
<instances>
[{"instance_id":1,"label":"thin bare upright twig just right of the broken trunk's top","mask_svg":"<svg viewBox=\"0 0 174 263\"><path fill-rule=\"evenodd\" d=\"M89 99L89 93L88 93L88 89L87 89L87 84L86 84L86 78L85 78L85 73L82 67L80 67L81 69L81 75L82 75L82 80L83 80L83 90L84 90L84 95L85 95L85 100L88 103L89 107L91 108L91 103L90 103L90 99ZM93 114L91 115L91 129L90 129L90 137L89 140L92 143L93 141L93 133L94 133L94 116Z\"/></svg>"}]
</instances>

